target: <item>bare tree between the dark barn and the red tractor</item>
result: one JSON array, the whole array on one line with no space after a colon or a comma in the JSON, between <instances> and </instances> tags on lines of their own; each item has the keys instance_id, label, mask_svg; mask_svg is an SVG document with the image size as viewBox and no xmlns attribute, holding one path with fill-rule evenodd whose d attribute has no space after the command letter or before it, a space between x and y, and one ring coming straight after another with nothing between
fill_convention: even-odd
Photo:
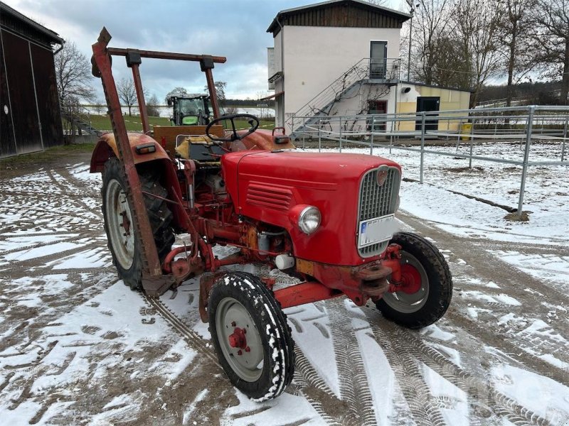
<instances>
[{"instance_id":1,"label":"bare tree between the dark barn and the red tractor","mask_svg":"<svg viewBox=\"0 0 569 426\"><path fill-rule=\"evenodd\" d=\"M54 62L58 95L63 103L68 97L91 102L95 100L91 86L91 66L75 43L65 43L63 49L55 55Z\"/></svg>"}]
</instances>

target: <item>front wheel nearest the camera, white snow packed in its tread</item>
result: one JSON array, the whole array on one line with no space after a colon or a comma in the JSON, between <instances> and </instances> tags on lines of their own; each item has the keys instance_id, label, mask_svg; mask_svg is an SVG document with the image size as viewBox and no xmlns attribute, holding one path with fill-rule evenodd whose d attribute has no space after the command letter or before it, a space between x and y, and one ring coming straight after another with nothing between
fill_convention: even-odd
<instances>
[{"instance_id":1,"label":"front wheel nearest the camera, white snow packed in its tread","mask_svg":"<svg viewBox=\"0 0 569 426\"><path fill-rule=\"evenodd\" d=\"M259 278L229 273L218 280L208 316L219 362L236 388L256 401L285 391L294 376L294 340L279 302ZM232 346L238 330L245 330L246 342Z\"/></svg>"}]
</instances>

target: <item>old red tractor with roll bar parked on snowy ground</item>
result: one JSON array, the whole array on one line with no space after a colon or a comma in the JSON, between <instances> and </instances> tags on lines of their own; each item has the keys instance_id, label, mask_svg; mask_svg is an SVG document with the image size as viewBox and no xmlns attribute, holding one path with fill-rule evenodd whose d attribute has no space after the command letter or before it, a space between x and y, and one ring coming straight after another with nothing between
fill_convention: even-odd
<instances>
[{"instance_id":1,"label":"old red tractor with roll bar parked on snowy ground","mask_svg":"<svg viewBox=\"0 0 569 426\"><path fill-rule=\"evenodd\" d=\"M266 400L291 382L294 342L284 308L346 296L358 306L372 300L405 327L442 317L452 278L429 241L396 232L397 163L294 151L284 129L259 130L254 116L218 116L211 70L225 58L107 48L109 40L103 28L92 62L113 133L97 144L91 172L102 173L113 263L125 284L151 296L203 274L201 318L235 387ZM184 137L170 150L147 134L127 133L111 55L126 56L132 67L145 131L141 58L199 61L215 116L205 135ZM238 118L247 130L236 129ZM220 130L221 120L230 130ZM186 241L172 249L176 234L187 234ZM235 253L217 258L216 245ZM245 263L265 263L300 283L273 291L270 279L223 268Z\"/></svg>"}]
</instances>

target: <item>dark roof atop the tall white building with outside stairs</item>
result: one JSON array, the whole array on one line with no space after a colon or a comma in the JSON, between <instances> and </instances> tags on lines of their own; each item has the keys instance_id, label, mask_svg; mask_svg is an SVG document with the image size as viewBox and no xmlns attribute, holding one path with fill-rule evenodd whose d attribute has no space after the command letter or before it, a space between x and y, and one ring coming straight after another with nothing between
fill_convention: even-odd
<instances>
[{"instance_id":1,"label":"dark roof atop the tall white building with outside stairs","mask_svg":"<svg viewBox=\"0 0 569 426\"><path fill-rule=\"evenodd\" d=\"M371 4L368 1L363 0L329 0L322 1L321 3L307 4L306 6L295 7L292 9L285 9L277 13L277 16L272 20L269 28L267 28L267 33L273 33L277 35L279 33L281 25L312 25L312 26L352 26L352 27L370 27L370 28L381 28L382 25L374 25L369 23L361 24L361 21L352 25L331 25L330 21L334 20L333 16L325 17L321 14L316 18L305 19L300 21L301 23L287 22L289 18L294 16L305 15L309 12L322 11L324 9L332 9L338 6L351 6L352 8L358 9L362 12L371 12L375 14L380 14L383 16L388 16L394 18L398 22L398 28L400 24L407 21L411 15L409 13L395 11L393 9L388 9L383 6L378 6L376 4ZM344 17L345 18L345 17ZM337 16L336 16L337 19Z\"/></svg>"}]
</instances>

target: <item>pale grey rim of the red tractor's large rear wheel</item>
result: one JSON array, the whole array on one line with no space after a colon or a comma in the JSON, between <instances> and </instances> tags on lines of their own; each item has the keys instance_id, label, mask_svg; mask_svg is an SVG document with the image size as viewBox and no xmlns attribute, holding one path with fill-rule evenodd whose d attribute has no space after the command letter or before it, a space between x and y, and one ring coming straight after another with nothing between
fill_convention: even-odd
<instances>
[{"instance_id":1,"label":"pale grey rim of the red tractor's large rear wheel","mask_svg":"<svg viewBox=\"0 0 569 426\"><path fill-rule=\"evenodd\" d=\"M129 269L134 259L134 231L132 213L127 195L120 183L113 179L107 185L105 209L110 244L115 251L115 258L123 269Z\"/></svg>"}]
</instances>

